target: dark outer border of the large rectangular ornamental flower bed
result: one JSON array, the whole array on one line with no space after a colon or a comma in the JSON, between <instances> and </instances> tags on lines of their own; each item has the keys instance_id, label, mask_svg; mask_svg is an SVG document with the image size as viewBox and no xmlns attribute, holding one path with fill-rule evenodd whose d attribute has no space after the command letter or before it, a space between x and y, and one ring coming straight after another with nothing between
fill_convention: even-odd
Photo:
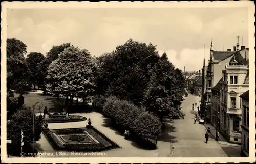
<instances>
[{"instance_id":1,"label":"dark outer border of the large rectangular ornamental flower bed","mask_svg":"<svg viewBox=\"0 0 256 164\"><path fill-rule=\"evenodd\" d=\"M83 145L83 144L76 144L76 145L59 145L52 137L52 135L49 133L49 131L53 131L53 130L86 130L89 128L67 128L67 129L52 129L50 130L49 128L43 128L42 129L42 133L46 136L48 142L52 145L52 147L55 150L64 150L64 151L77 151L77 152L99 152L99 151L106 151L106 150L110 150L110 149L114 149L114 148L121 148L118 144L116 144L114 141L112 141L111 139L109 139L106 135L104 135L103 133L101 133L99 130L97 130L94 127L90 127L90 129L92 129L94 132L96 132L97 134L99 134L104 140L108 141L111 146L107 146L107 147L101 147L103 146L102 143L99 144L90 144L91 146L98 147L98 148L84 148L84 147L79 147L78 145Z\"/></svg>"}]
</instances>

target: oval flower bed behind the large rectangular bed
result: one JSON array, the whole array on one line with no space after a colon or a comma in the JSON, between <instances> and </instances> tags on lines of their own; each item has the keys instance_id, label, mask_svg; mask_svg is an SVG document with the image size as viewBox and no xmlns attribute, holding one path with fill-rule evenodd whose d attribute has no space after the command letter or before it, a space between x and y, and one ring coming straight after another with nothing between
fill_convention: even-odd
<instances>
[{"instance_id":1,"label":"oval flower bed behind the large rectangular bed","mask_svg":"<svg viewBox=\"0 0 256 164\"><path fill-rule=\"evenodd\" d=\"M55 118L48 118L45 119L47 123L64 123L64 122L78 122L78 121L85 121L87 120L86 117L79 116L79 115L69 115L68 118L63 117L55 117Z\"/></svg>"}]
</instances>

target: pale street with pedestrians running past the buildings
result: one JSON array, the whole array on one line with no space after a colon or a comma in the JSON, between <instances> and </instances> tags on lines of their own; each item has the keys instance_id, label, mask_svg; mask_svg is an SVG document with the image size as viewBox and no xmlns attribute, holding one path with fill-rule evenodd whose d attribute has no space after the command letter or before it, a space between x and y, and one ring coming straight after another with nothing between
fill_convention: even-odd
<instances>
[{"instance_id":1,"label":"pale street with pedestrians running past the buildings","mask_svg":"<svg viewBox=\"0 0 256 164\"><path fill-rule=\"evenodd\" d=\"M184 120L175 120L172 123L172 147L171 157L227 157L220 144L210 138L205 143L206 128L196 122L195 115L191 113L192 104L199 103L200 97L188 95L182 103L182 110L185 113ZM197 110L197 106L194 106Z\"/></svg>"}]
</instances>

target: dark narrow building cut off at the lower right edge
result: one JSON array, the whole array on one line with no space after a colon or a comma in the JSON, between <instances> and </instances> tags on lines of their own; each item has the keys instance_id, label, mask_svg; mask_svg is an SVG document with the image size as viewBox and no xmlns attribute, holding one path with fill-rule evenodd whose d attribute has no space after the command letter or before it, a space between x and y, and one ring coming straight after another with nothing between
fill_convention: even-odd
<instances>
[{"instance_id":1,"label":"dark narrow building cut off at the lower right edge","mask_svg":"<svg viewBox=\"0 0 256 164\"><path fill-rule=\"evenodd\" d=\"M241 154L249 156L249 90L240 95L242 102L242 143Z\"/></svg>"}]
</instances>

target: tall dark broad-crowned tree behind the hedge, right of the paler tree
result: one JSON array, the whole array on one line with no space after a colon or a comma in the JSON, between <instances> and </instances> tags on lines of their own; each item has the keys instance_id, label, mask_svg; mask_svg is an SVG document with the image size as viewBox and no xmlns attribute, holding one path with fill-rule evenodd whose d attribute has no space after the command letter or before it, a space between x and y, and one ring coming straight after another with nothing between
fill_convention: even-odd
<instances>
[{"instance_id":1,"label":"tall dark broad-crowned tree behind the hedge, right of the paler tree","mask_svg":"<svg viewBox=\"0 0 256 164\"><path fill-rule=\"evenodd\" d=\"M147 81L150 79L148 72L160 58L156 46L129 39L103 58L106 61L99 66L98 94L113 94L141 105Z\"/></svg>"}]
</instances>

